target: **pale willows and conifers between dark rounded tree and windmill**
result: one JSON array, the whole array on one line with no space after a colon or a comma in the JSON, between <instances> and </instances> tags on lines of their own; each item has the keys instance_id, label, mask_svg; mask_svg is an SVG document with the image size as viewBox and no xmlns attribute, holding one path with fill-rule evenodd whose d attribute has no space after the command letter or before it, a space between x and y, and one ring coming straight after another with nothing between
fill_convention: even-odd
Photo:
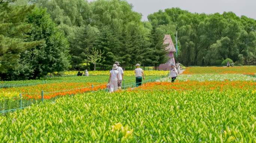
<instances>
[{"instance_id":1,"label":"pale willows and conifers between dark rounded tree and windmill","mask_svg":"<svg viewBox=\"0 0 256 143\"><path fill-rule=\"evenodd\" d=\"M145 63L149 48L151 24L141 22L141 15L124 0L37 0L46 7L51 18L63 30L70 42L72 69L83 69L85 49L104 52L100 69L109 69L115 61L123 67ZM70 3L70 4L68 4ZM82 12L80 12L82 10ZM79 22L77 22L79 21ZM165 56L165 55L164 55ZM152 63L149 63L152 64ZM93 69L93 66L91 67Z\"/></svg>"}]
</instances>

